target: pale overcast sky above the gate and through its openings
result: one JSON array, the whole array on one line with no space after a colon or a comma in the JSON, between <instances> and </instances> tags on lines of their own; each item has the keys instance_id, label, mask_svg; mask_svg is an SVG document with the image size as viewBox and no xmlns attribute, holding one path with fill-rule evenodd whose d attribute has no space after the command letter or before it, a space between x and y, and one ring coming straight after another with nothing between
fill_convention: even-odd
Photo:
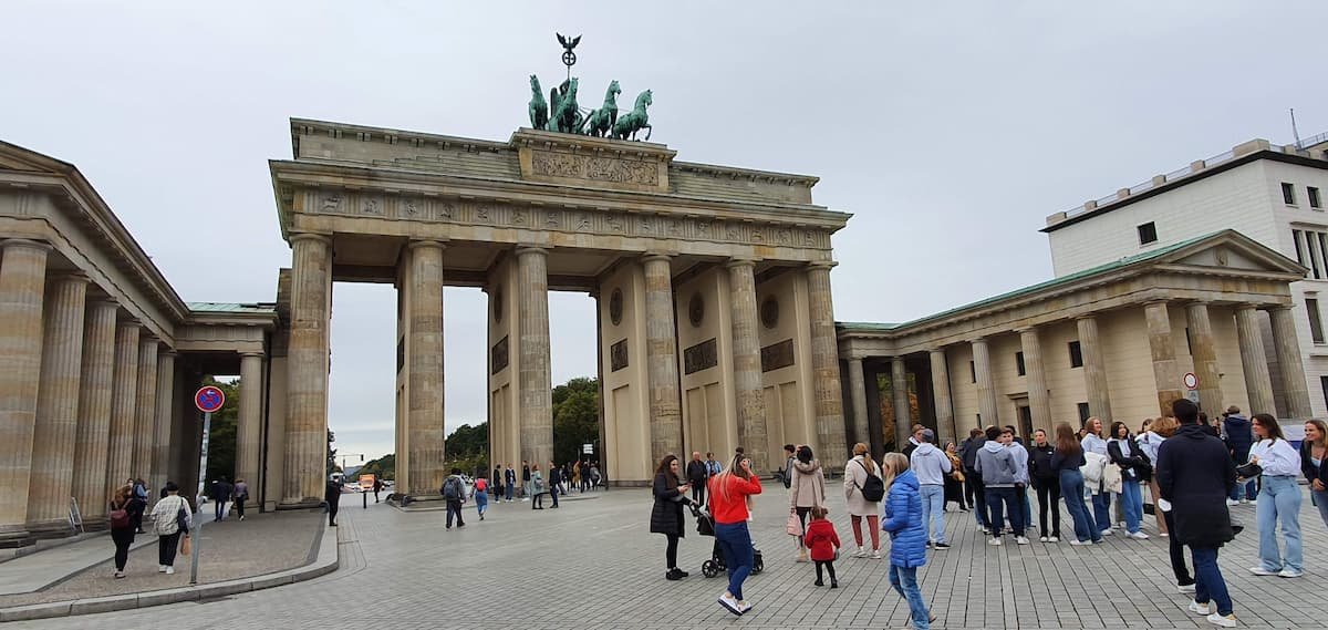
<instances>
[{"instance_id":1,"label":"pale overcast sky above the gate and through its openings","mask_svg":"<svg viewBox=\"0 0 1328 630\"><path fill-rule=\"evenodd\" d=\"M288 118L502 141L583 35L583 105L649 88L679 159L819 175L837 319L896 322L1048 279L1048 214L1289 142L1288 108L1328 130L1321 1L487 4L8 0L0 138L78 166L183 299L270 302ZM392 449L393 291L333 288L343 453ZM445 291L449 431L485 419L485 303ZM550 312L554 383L592 376L594 303Z\"/></svg>"}]
</instances>

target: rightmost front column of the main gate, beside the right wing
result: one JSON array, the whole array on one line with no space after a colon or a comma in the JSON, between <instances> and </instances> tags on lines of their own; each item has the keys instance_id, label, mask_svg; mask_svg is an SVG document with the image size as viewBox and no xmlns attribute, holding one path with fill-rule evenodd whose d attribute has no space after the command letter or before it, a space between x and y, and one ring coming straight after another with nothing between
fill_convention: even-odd
<instances>
[{"instance_id":1,"label":"rightmost front column of the main gate, beside the right wing","mask_svg":"<svg viewBox=\"0 0 1328 630\"><path fill-rule=\"evenodd\" d=\"M843 391L839 380L839 340L830 299L831 263L807 266L807 311L811 322L811 381L815 391L817 443L830 469L849 459L843 435Z\"/></svg>"}]
</instances>

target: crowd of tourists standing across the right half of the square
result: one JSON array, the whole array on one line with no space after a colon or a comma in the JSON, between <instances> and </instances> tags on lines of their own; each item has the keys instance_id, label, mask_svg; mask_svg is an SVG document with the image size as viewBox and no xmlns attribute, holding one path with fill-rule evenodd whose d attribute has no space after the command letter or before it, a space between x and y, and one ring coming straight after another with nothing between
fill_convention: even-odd
<instances>
[{"instance_id":1,"label":"crowd of tourists standing across the right half of the square","mask_svg":"<svg viewBox=\"0 0 1328 630\"><path fill-rule=\"evenodd\" d=\"M1268 413L1246 417L1231 407L1208 421L1189 400L1177 400L1171 415L1145 420L1138 432L1121 421L1090 417L1081 427L1056 423L1050 433L1037 428L1028 444L1013 427L972 429L961 444L936 445L936 435L915 425L900 452L878 464L865 444L855 444L843 471L845 512L853 530L853 558L888 557L891 586L908 602L915 629L935 621L918 586L918 568L928 552L950 549L946 510L956 502L972 512L977 530L991 546L1011 534L1016 545L1037 541L1056 545L1102 544L1120 536L1145 541L1145 516L1151 512L1157 536L1166 538L1178 593L1190 597L1189 611L1220 627L1235 627L1231 595L1218 568L1218 553L1242 530L1230 509L1255 504L1259 557L1255 576L1300 578L1304 573L1299 513L1299 477L1308 481L1311 500L1328 526L1328 425L1305 423L1300 448L1289 443ZM788 488L786 532L797 540L795 562L815 565L815 586L826 577L838 587L835 561L842 541L829 518L826 474L807 445L785 445L785 465L776 476ZM1032 518L1029 489L1037 501ZM746 614L753 601L742 586L753 572L753 542L748 522L760 477L742 449L728 467L712 453L692 453L685 468L665 456L655 473L651 532L667 537L665 579L685 578L677 565L684 509L692 508L713 529L716 554L729 581L718 605ZM1149 501L1145 501L1145 493ZM1070 529L1062 537L1061 509ZM866 534L863 533L866 522ZM882 554L880 533L890 549ZM870 542L870 549L867 544ZM1190 561L1186 562L1186 549Z\"/></svg>"}]
</instances>

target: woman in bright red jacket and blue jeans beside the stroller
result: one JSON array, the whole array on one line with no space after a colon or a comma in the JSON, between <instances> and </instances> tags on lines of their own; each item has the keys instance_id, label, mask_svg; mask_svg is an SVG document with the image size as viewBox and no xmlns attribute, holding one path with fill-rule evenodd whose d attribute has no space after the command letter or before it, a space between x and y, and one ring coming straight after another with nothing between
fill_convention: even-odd
<instances>
[{"instance_id":1,"label":"woman in bright red jacket and blue jeans beside the stroller","mask_svg":"<svg viewBox=\"0 0 1328 630\"><path fill-rule=\"evenodd\" d=\"M752 573L752 533L748 530L746 498L761 493L761 478L752 472L752 460L741 452L724 472L710 477L710 516L714 517L714 540L724 552L729 572L729 590L720 595L720 606L733 614L752 610L742 598L742 581Z\"/></svg>"}]
</instances>

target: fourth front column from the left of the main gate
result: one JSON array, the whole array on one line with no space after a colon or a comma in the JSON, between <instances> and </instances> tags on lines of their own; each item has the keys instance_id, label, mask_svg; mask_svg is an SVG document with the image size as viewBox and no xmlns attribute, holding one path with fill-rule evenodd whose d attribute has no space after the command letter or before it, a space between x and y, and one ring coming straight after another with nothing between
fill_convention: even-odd
<instances>
[{"instance_id":1,"label":"fourth front column from the left of the main gate","mask_svg":"<svg viewBox=\"0 0 1328 630\"><path fill-rule=\"evenodd\" d=\"M651 461L683 455L683 395L677 380L673 327L673 268L667 255L647 255L645 371L651 387Z\"/></svg>"}]
</instances>

